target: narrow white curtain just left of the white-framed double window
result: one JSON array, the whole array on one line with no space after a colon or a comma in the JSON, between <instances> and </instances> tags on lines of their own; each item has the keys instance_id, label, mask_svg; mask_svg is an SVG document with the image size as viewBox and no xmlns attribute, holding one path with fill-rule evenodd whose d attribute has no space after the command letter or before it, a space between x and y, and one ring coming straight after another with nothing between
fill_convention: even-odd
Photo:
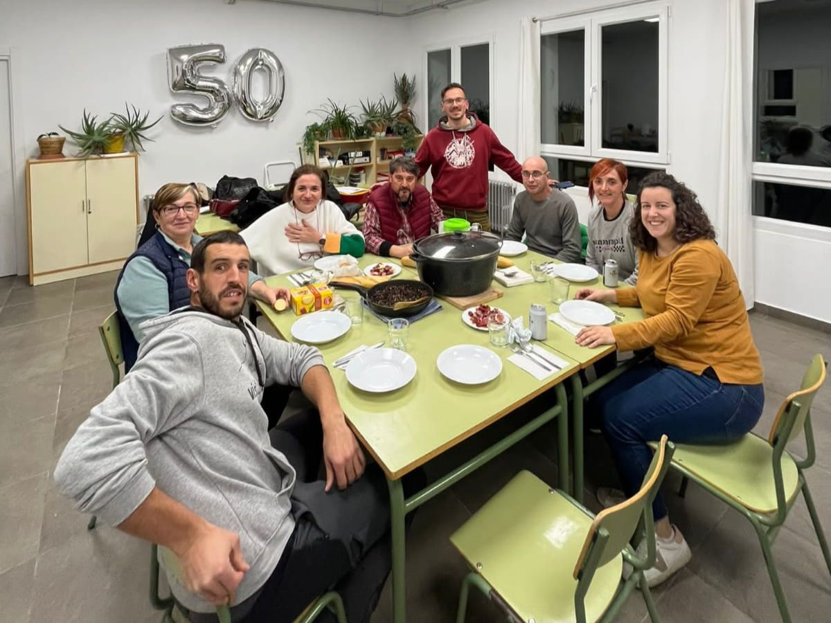
<instances>
[{"instance_id":1,"label":"narrow white curtain just left of the white-framed double window","mask_svg":"<svg viewBox=\"0 0 831 623\"><path fill-rule=\"evenodd\" d=\"M539 22L523 17L519 22L519 162L539 155Z\"/></svg>"}]
</instances>

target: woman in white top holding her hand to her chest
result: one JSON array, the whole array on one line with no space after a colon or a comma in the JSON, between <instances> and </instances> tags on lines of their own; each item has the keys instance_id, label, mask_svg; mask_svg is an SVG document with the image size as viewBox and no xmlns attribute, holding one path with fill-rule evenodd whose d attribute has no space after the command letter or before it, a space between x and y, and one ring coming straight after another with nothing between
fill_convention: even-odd
<instances>
[{"instance_id":1,"label":"woman in white top holding her hand to her chest","mask_svg":"<svg viewBox=\"0 0 831 623\"><path fill-rule=\"evenodd\" d=\"M263 214L241 232L263 275L312 266L326 253L360 258L364 239L341 208L323 199L323 172L313 164L294 169L283 205Z\"/></svg>"}]
</instances>

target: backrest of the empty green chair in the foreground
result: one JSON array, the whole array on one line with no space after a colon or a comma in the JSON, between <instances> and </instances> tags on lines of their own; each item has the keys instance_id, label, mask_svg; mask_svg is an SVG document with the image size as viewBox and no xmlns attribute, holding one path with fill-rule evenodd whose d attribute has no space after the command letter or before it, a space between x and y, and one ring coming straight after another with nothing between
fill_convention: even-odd
<instances>
[{"instance_id":1,"label":"backrest of the empty green chair in the foreground","mask_svg":"<svg viewBox=\"0 0 831 623\"><path fill-rule=\"evenodd\" d=\"M586 541L583 542L583 551L580 552L580 557L574 567L573 575L578 580L578 592L583 582L585 582L585 590L588 590L588 583L591 581L590 576L593 576L594 569L602 567L612 558L619 556L627 547L641 519L644 520L647 541L649 540L650 532L653 530L652 500L655 499L666 470L670 466L674 451L675 446L668 441L666 435L661 436L661 441L652 456L652 464L643 479L641 490L632 498L612 508L603 509L594 518L586 535ZM601 534L603 537L598 538ZM652 534L654 535L654 532ZM654 537L651 549L649 556L654 557ZM654 560L652 562L654 563Z\"/></svg>"}]
</instances>

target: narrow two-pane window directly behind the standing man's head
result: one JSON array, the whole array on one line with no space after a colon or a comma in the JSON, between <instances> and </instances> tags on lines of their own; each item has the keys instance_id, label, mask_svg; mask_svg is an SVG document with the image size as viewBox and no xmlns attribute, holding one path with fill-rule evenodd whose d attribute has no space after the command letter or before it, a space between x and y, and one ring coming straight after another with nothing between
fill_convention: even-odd
<instances>
[{"instance_id":1,"label":"narrow two-pane window directly behind the standing man's head","mask_svg":"<svg viewBox=\"0 0 831 623\"><path fill-rule=\"evenodd\" d=\"M490 125L491 102L491 44L489 41L471 41L434 47L425 53L427 84L427 127L435 127L444 113L441 111L441 90L450 82L465 87L470 111Z\"/></svg>"}]
</instances>

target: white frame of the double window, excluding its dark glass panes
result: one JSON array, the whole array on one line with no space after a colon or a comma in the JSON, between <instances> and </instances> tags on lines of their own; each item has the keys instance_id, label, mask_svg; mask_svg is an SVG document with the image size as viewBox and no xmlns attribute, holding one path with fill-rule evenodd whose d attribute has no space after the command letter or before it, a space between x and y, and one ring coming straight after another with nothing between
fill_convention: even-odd
<instances>
[{"instance_id":1,"label":"white frame of the double window, excluding its dark glass panes","mask_svg":"<svg viewBox=\"0 0 831 623\"><path fill-rule=\"evenodd\" d=\"M632 7L599 9L577 17L555 18L543 22L540 37L571 32L583 28L583 146L543 143L543 155L566 159L613 158L633 166L666 168L669 153L669 18L666 2L648 2ZM658 18L658 145L657 151L617 150L602 147L602 28L625 22L637 22L648 17ZM542 42L540 42L542 44ZM542 49L542 46L540 47ZM540 58L542 65L542 58ZM542 76L540 76L542 92ZM659 166L656 166L659 165Z\"/></svg>"}]
</instances>

